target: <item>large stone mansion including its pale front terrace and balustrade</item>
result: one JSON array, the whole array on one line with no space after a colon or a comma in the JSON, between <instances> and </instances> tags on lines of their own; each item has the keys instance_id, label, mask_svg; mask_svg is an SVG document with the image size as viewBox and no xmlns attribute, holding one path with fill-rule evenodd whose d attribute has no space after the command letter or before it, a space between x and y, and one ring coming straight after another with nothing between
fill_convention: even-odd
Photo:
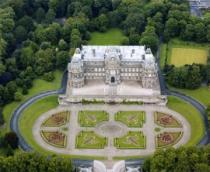
<instances>
[{"instance_id":1,"label":"large stone mansion including its pale front terrace and balustrade","mask_svg":"<svg viewBox=\"0 0 210 172\"><path fill-rule=\"evenodd\" d=\"M59 102L83 100L163 103L151 50L145 46L77 48L68 65L66 94L59 97Z\"/></svg>"}]
</instances>

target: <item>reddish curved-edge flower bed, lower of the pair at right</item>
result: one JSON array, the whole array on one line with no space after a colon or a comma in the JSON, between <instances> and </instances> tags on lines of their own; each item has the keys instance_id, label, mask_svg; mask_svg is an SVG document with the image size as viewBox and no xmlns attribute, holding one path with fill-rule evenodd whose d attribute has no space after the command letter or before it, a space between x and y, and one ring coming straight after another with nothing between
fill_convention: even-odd
<instances>
[{"instance_id":1,"label":"reddish curved-edge flower bed, lower of the pair at right","mask_svg":"<svg viewBox=\"0 0 210 172\"><path fill-rule=\"evenodd\" d=\"M182 138L183 132L164 132L156 136L156 147L166 148L173 146Z\"/></svg>"}]
</instances>

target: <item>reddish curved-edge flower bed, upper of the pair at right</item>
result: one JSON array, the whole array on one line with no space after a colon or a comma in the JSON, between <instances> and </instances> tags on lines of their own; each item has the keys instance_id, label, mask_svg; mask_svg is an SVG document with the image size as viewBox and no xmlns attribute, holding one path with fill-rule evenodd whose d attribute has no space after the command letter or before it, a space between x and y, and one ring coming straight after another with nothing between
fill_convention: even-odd
<instances>
[{"instance_id":1,"label":"reddish curved-edge flower bed, upper of the pair at right","mask_svg":"<svg viewBox=\"0 0 210 172\"><path fill-rule=\"evenodd\" d=\"M161 112L155 112L154 116L155 116L155 123L162 127L165 127L165 128L181 128L182 127L180 122L171 115L161 113Z\"/></svg>"}]
</instances>

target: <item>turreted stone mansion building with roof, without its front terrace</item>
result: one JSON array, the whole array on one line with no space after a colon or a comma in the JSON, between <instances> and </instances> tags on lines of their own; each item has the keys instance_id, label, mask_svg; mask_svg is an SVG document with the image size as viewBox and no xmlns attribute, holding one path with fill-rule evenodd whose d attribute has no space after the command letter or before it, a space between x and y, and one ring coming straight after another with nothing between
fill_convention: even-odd
<instances>
[{"instance_id":1,"label":"turreted stone mansion building with roof, without its front terrace","mask_svg":"<svg viewBox=\"0 0 210 172\"><path fill-rule=\"evenodd\" d=\"M121 49L125 49L130 57L124 58ZM135 80L144 88L157 87L155 58L151 50L144 46L104 46L100 49L83 46L81 50L75 51L68 69L70 85L75 88L83 87L85 80L98 79L109 85L120 84L123 80Z\"/></svg>"}]
</instances>

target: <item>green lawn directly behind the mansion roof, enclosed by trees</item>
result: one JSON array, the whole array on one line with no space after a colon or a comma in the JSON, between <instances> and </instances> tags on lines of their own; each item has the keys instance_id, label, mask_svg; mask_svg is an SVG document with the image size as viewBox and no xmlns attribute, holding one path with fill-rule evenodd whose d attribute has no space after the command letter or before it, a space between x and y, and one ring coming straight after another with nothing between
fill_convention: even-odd
<instances>
[{"instance_id":1,"label":"green lawn directly behind the mansion roof, enclosed by trees","mask_svg":"<svg viewBox=\"0 0 210 172\"><path fill-rule=\"evenodd\" d=\"M107 32L93 32L91 33L91 39L88 42L89 45L121 45L123 38L122 31L120 29L109 29Z\"/></svg>"}]
</instances>

